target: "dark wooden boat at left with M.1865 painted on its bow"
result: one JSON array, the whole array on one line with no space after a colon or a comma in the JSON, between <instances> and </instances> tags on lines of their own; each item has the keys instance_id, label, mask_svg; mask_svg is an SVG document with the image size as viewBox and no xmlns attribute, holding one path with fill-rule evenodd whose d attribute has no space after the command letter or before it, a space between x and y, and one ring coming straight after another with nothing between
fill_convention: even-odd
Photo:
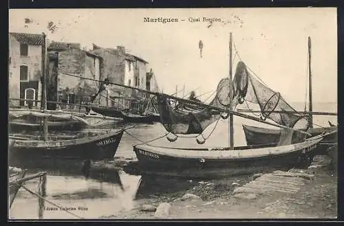
<instances>
[{"instance_id":1,"label":"dark wooden boat at left with M.1865 painted on its bow","mask_svg":"<svg viewBox=\"0 0 344 226\"><path fill-rule=\"evenodd\" d=\"M15 144L10 150L10 163L41 159L114 159L122 135L123 130L88 132L69 137L55 135L47 141L41 137L12 135Z\"/></svg>"}]
</instances>

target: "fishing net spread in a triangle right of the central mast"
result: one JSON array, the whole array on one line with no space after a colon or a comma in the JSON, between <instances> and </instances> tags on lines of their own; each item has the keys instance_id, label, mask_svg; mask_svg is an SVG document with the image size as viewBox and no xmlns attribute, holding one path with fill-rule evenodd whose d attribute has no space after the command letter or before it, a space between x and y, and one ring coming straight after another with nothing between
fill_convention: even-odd
<instances>
[{"instance_id":1,"label":"fishing net spread in a triangle right of the central mast","mask_svg":"<svg viewBox=\"0 0 344 226\"><path fill-rule=\"evenodd\" d=\"M269 119L289 128L308 129L308 116L298 113L283 99L281 93L273 91L264 82L252 76L241 61L237 64L233 89L233 104L236 106L245 101L258 104L261 120ZM301 139L305 137L302 133L297 133L297 136Z\"/></svg>"}]
</instances>

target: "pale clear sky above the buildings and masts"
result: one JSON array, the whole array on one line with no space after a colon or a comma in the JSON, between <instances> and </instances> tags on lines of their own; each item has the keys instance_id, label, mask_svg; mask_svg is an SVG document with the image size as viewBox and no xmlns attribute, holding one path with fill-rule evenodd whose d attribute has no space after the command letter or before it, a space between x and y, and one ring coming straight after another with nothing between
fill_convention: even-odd
<instances>
[{"instance_id":1,"label":"pale clear sky above the buildings and masts","mask_svg":"<svg viewBox=\"0 0 344 226\"><path fill-rule=\"evenodd\" d=\"M144 17L178 22L144 22ZM221 21L202 21L203 17ZM190 22L189 18L200 18ZM31 23L25 23L30 19ZM182 21L184 20L184 21ZM56 25L54 33L47 24ZM314 102L337 102L336 8L16 9L9 31L41 33L54 41L92 47L124 45L149 62L164 93L214 91L239 60L288 102L304 102L308 87L308 36L312 38ZM199 41L204 47L200 57ZM235 54L237 52L237 54ZM178 95L182 95L182 91ZM204 95L206 98L208 95Z\"/></svg>"}]
</instances>

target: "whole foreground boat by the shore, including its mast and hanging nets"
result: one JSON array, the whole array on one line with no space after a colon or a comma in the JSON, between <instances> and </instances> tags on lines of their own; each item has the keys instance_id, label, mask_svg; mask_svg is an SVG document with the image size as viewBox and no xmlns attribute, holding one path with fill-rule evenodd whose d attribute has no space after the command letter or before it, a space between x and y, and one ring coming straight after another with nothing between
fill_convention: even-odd
<instances>
[{"instance_id":1,"label":"whole foreground boat by the shore, including its mast and hanging nets","mask_svg":"<svg viewBox=\"0 0 344 226\"><path fill-rule=\"evenodd\" d=\"M199 105L202 110L189 108L178 111L178 108L171 105L170 100L173 97L158 95L162 125L166 131L175 135L174 139L166 137L169 142L175 142L180 135L197 134L197 143L204 144L208 139L202 135L206 127L213 122L216 122L216 126L219 119L229 117L230 147L175 148L137 144L133 146L133 151L138 158L138 167L142 174L208 178L288 169L300 165L308 166L324 137L336 133L331 131L312 136L310 133L295 129L297 122L307 122L304 116L292 109L280 93L267 87L259 78L255 78L257 75L251 74L241 60L237 64L235 78L232 80L231 57L232 36L230 35L230 76L220 80L216 96L209 104L205 106L202 103L193 103ZM261 106L261 118L233 111L237 104L243 104L245 101ZM184 104L190 100L179 99L178 102ZM187 111L189 113L186 114ZM260 145L235 147L233 115L281 128L278 139ZM296 135L293 137L294 134ZM307 138L306 135L310 137Z\"/></svg>"}]
</instances>

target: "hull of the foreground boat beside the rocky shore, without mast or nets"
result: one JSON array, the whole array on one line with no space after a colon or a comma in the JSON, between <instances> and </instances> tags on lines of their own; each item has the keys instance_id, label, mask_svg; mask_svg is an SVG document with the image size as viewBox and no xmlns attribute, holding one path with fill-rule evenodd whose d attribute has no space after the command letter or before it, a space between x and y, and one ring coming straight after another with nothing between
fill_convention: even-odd
<instances>
[{"instance_id":1,"label":"hull of the foreground boat beside the rocky shore, without mast or nets","mask_svg":"<svg viewBox=\"0 0 344 226\"><path fill-rule=\"evenodd\" d=\"M305 142L276 146L240 146L230 148L167 148L133 146L144 174L175 177L225 177L262 170L290 168L312 157L324 135Z\"/></svg>"}]
</instances>

